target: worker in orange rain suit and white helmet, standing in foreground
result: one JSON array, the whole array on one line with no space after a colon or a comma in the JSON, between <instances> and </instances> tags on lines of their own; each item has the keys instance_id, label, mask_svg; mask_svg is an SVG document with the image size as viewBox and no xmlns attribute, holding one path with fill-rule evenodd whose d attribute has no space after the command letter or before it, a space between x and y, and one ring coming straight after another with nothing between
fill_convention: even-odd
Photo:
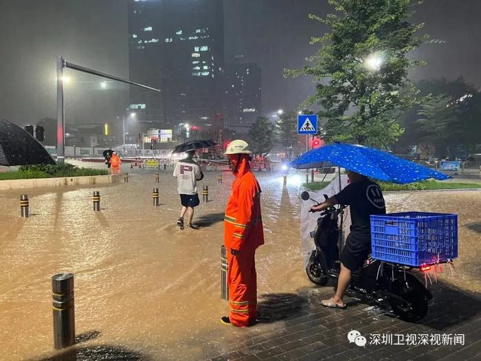
<instances>
[{"instance_id":1,"label":"worker in orange rain suit and white helmet, standing in foreground","mask_svg":"<svg viewBox=\"0 0 481 361\"><path fill-rule=\"evenodd\" d=\"M260 216L260 186L251 172L249 144L233 140L225 155L236 177L225 208L224 245L229 265L230 315L221 318L225 325L247 327L257 317L256 248L264 244Z\"/></svg>"}]
</instances>

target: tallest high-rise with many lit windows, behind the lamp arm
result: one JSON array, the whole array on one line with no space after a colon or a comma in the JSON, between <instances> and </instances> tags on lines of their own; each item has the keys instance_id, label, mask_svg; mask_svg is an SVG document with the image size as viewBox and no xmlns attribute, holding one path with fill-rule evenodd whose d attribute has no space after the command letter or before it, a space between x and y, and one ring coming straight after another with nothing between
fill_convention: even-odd
<instances>
[{"instance_id":1,"label":"tallest high-rise with many lit windows, behind the lamp arm","mask_svg":"<svg viewBox=\"0 0 481 361\"><path fill-rule=\"evenodd\" d=\"M128 12L131 79L161 89L131 87L130 108L159 128L209 123L223 104L223 1L130 0Z\"/></svg>"}]
</instances>

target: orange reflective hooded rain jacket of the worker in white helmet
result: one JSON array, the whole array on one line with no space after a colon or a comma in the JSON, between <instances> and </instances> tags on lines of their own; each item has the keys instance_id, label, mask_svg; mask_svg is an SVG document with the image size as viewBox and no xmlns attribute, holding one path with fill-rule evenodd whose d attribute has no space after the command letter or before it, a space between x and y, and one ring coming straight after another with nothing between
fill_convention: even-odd
<instances>
[{"instance_id":1,"label":"orange reflective hooded rain jacket of the worker in white helmet","mask_svg":"<svg viewBox=\"0 0 481 361\"><path fill-rule=\"evenodd\" d=\"M225 208L224 245L231 249L254 252L264 244L260 214L260 186L250 171L249 160L243 156L234 173L230 199Z\"/></svg>"}]
</instances>

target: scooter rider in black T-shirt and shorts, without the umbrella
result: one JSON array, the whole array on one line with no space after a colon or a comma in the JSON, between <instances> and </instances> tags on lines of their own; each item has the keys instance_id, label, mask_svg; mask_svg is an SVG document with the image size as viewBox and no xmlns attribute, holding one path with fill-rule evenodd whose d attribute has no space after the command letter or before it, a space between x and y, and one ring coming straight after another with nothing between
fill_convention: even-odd
<instances>
[{"instance_id":1,"label":"scooter rider in black T-shirt and shorts, without the umbrella","mask_svg":"<svg viewBox=\"0 0 481 361\"><path fill-rule=\"evenodd\" d=\"M351 226L342 249L341 272L337 290L333 297L322 300L326 307L346 308L344 294L348 288L351 272L359 270L371 252L370 215L384 215L385 202L381 188L366 175L348 171L350 184L337 195L327 199L319 206L312 206L312 212L320 212L328 207L342 204L350 206Z\"/></svg>"}]
</instances>

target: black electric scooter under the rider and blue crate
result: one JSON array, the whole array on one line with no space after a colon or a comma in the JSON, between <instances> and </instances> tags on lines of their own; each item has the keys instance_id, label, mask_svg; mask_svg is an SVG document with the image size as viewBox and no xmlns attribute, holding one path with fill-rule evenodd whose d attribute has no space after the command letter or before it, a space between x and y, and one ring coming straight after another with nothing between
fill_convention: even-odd
<instances>
[{"instance_id":1,"label":"black electric scooter under the rider and blue crate","mask_svg":"<svg viewBox=\"0 0 481 361\"><path fill-rule=\"evenodd\" d=\"M301 197L304 201L311 199L308 192L302 192ZM327 195L324 197L328 198ZM311 201L319 204L314 199ZM315 250L309 256L306 273L316 285L324 286L330 278L339 278L339 214L343 208L333 206L322 211L317 227L311 232ZM352 272L347 293L368 298L383 308L390 306L394 314L407 322L421 320L427 314L432 294L412 270L413 267L386 263L369 256L360 270Z\"/></svg>"}]
</instances>

